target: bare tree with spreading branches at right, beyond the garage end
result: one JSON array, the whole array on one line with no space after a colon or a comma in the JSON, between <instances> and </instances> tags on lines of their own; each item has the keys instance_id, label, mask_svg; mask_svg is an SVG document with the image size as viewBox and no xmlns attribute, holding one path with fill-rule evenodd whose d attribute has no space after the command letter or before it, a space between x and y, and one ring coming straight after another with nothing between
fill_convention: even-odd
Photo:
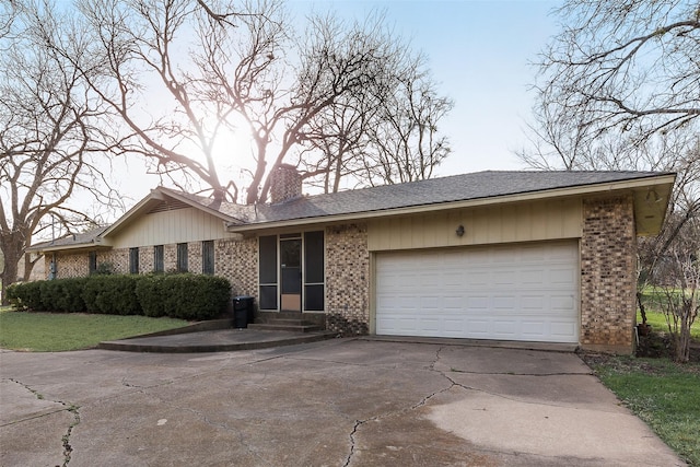
<instances>
[{"instance_id":1,"label":"bare tree with spreading branches at right, beyond the garage end","mask_svg":"<svg viewBox=\"0 0 700 467\"><path fill-rule=\"evenodd\" d=\"M534 150L521 159L538 168L676 172L667 222L640 247L642 276L662 283L658 271L670 269L661 262L680 268L697 255L684 233L700 217L700 9L569 0L557 13L562 31L535 86ZM674 278L666 284L680 287L681 275Z\"/></svg>"}]
</instances>

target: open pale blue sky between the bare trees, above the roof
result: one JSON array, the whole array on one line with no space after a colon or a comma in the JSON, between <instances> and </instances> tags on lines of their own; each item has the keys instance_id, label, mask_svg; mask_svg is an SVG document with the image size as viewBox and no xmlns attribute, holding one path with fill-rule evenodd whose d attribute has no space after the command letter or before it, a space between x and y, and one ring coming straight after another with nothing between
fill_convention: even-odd
<instances>
[{"instance_id":1,"label":"open pale blue sky between the bare trees, above the roof","mask_svg":"<svg viewBox=\"0 0 700 467\"><path fill-rule=\"evenodd\" d=\"M515 151L527 144L525 129L534 93L532 62L557 33L550 14L560 1L546 0L288 0L302 22L308 12L363 19L384 12L386 23L415 51L428 57L439 92L454 101L441 133L452 153L434 172L447 176L487 170L522 170ZM132 202L159 185L143 167L126 167L121 188ZM240 171L240 170L238 170ZM222 178L235 178L232 173Z\"/></svg>"}]
</instances>

